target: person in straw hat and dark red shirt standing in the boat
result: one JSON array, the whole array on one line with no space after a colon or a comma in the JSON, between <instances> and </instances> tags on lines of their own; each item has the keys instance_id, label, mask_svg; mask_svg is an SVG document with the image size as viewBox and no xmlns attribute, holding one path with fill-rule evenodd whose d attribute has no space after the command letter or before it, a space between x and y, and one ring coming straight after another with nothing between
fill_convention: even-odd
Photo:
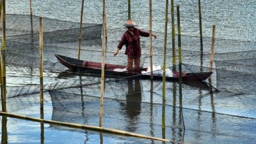
<instances>
[{"instance_id":1,"label":"person in straw hat and dark red shirt standing in the boat","mask_svg":"<svg viewBox=\"0 0 256 144\"><path fill-rule=\"evenodd\" d=\"M127 55L127 70L134 71L139 70L141 64L141 43L140 36L149 37L150 33L147 33L138 28L134 28L136 26L135 22L129 19L125 26L127 27L127 31L122 35L122 39L118 44L118 48L116 48L114 56L118 55L119 50L122 46L125 45L125 55ZM157 38L156 35L152 34L154 39ZM134 63L134 67L133 67Z\"/></svg>"}]
</instances>

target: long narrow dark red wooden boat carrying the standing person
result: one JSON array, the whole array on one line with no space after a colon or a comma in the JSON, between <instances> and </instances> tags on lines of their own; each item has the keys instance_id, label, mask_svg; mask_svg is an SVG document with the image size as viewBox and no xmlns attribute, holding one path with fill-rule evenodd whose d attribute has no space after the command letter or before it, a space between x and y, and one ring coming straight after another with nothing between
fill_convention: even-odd
<instances>
[{"instance_id":1,"label":"long narrow dark red wooden boat carrying the standing person","mask_svg":"<svg viewBox=\"0 0 256 144\"><path fill-rule=\"evenodd\" d=\"M57 55L58 61L61 62L64 66L66 66L71 71L79 71L84 73L101 73L102 63L100 62L88 62L83 60L77 60L72 57L66 57L63 55ZM114 69L125 69L127 66L124 65L116 65L116 64L105 64L104 72L105 75L117 75L122 77L131 77L136 76L141 79L150 79L150 75L143 75L141 71L147 71L147 68L142 68L139 71L114 71ZM175 81L179 80L179 72L173 71L174 77L166 77L166 80ZM182 80L205 80L207 79L212 72L200 72L200 73L184 73L182 72ZM162 80L162 76L154 75L154 80Z\"/></svg>"}]
</instances>

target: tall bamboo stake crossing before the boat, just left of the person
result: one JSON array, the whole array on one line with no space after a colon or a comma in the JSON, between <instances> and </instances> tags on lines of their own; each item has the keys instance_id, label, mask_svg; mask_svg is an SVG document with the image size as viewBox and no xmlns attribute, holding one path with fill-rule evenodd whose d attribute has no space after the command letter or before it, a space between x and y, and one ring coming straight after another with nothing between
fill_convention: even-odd
<instances>
[{"instance_id":1,"label":"tall bamboo stake crossing before the boat, just left of the person","mask_svg":"<svg viewBox=\"0 0 256 144\"><path fill-rule=\"evenodd\" d=\"M100 112L99 112L99 127L102 127L102 117L104 114L104 110L103 110L103 103L104 103L104 68L105 68L105 49L106 49L106 43L105 43L105 29L106 29L106 8L105 8L105 0L103 0L103 30L102 30L102 78L101 78L101 93L100 93Z\"/></svg>"}]
</instances>

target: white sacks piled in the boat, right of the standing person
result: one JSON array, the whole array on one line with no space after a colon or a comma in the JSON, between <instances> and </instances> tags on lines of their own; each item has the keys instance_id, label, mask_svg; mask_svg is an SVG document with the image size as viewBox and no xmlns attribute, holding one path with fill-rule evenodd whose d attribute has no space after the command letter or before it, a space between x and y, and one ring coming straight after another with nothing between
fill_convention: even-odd
<instances>
[{"instance_id":1,"label":"white sacks piled in the boat, right of the standing person","mask_svg":"<svg viewBox=\"0 0 256 144\"><path fill-rule=\"evenodd\" d=\"M156 76L163 76L163 70L161 69L161 66L152 66L153 69L153 75ZM141 71L143 75L150 75L150 66L147 67L147 71ZM166 77L173 77L173 72L170 71L170 69L166 69Z\"/></svg>"}]
</instances>

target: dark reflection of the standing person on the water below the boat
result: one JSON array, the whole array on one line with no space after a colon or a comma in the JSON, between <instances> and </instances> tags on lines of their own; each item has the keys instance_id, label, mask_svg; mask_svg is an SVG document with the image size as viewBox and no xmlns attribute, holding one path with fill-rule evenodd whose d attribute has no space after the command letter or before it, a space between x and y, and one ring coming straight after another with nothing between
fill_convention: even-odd
<instances>
[{"instance_id":1,"label":"dark reflection of the standing person on the water below the boat","mask_svg":"<svg viewBox=\"0 0 256 144\"><path fill-rule=\"evenodd\" d=\"M141 82L139 80L128 80L127 102L123 107L128 116L127 129L129 132L136 130L136 119L141 114Z\"/></svg>"}]
</instances>

